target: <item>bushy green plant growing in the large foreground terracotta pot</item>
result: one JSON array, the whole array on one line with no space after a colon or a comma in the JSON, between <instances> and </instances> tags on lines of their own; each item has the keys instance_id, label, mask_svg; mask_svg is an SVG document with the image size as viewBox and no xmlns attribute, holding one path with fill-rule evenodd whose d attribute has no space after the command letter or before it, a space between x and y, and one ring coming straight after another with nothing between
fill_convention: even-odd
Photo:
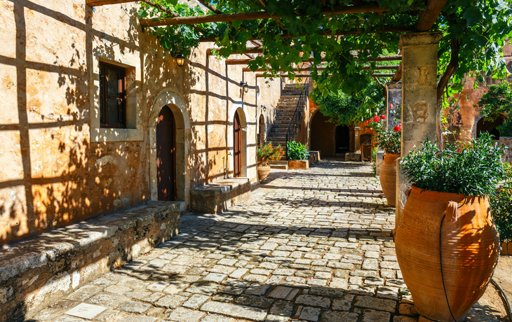
<instances>
[{"instance_id":1,"label":"bushy green plant growing in the large foreground terracotta pot","mask_svg":"<svg viewBox=\"0 0 512 322\"><path fill-rule=\"evenodd\" d=\"M444 150L426 140L403 158L410 183L418 188L466 196L494 195L504 178L504 147L482 134L470 143L447 144Z\"/></svg>"}]
</instances>

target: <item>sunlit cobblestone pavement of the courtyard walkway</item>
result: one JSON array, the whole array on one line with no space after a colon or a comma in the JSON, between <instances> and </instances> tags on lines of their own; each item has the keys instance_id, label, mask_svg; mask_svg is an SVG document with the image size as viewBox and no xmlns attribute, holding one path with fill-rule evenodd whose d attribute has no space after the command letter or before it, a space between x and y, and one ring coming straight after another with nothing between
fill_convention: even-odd
<instances>
[{"instance_id":1,"label":"sunlit cobblestone pavement of the courtyard walkway","mask_svg":"<svg viewBox=\"0 0 512 322\"><path fill-rule=\"evenodd\" d=\"M394 209L370 172L334 160L273 170L244 204L182 216L180 235L31 321L418 321Z\"/></svg>"}]
</instances>

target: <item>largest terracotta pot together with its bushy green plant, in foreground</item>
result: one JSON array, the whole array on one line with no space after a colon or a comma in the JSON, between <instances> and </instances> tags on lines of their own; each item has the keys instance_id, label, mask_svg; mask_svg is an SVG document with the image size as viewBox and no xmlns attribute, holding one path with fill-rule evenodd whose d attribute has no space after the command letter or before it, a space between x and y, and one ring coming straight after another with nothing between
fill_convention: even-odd
<instances>
[{"instance_id":1,"label":"largest terracotta pot together with its bushy green plant, in foreground","mask_svg":"<svg viewBox=\"0 0 512 322\"><path fill-rule=\"evenodd\" d=\"M444 150L425 141L403 158L412 190L397 223L396 256L415 309L435 321L463 321L499 258L489 196L504 178L489 134Z\"/></svg>"}]
</instances>

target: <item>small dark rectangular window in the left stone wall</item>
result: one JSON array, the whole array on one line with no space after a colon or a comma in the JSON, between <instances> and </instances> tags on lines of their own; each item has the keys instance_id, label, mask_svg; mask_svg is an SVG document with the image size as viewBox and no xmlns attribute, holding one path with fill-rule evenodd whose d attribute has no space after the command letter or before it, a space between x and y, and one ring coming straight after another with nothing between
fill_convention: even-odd
<instances>
[{"instance_id":1,"label":"small dark rectangular window in the left stone wall","mask_svg":"<svg viewBox=\"0 0 512 322\"><path fill-rule=\"evenodd\" d=\"M101 127L126 128L126 69L100 62Z\"/></svg>"}]
</instances>

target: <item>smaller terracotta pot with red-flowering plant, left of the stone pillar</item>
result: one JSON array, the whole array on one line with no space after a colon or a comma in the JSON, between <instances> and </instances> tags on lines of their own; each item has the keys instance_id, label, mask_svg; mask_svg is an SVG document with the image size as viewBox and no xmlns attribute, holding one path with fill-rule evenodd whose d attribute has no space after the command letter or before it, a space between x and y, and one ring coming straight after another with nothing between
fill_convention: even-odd
<instances>
[{"instance_id":1,"label":"smaller terracotta pot with red-flowering plant, left of the stone pillar","mask_svg":"<svg viewBox=\"0 0 512 322\"><path fill-rule=\"evenodd\" d=\"M386 126L386 116L375 116L366 124L373 124L375 127L375 139L379 148L384 149L384 160L382 162L379 174L380 186L386 196L390 206L396 204L396 160L400 158L402 124L388 129ZM396 120L395 123L396 124Z\"/></svg>"}]
</instances>

